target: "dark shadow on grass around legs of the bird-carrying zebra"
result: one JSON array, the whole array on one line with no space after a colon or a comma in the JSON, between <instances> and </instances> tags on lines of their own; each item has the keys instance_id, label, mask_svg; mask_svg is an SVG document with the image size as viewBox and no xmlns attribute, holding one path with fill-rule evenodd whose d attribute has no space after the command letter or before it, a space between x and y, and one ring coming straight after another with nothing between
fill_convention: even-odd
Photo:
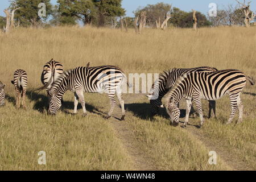
<instances>
[{"instance_id":1,"label":"dark shadow on grass around legs of the bird-carrying zebra","mask_svg":"<svg viewBox=\"0 0 256 182\"><path fill-rule=\"evenodd\" d=\"M30 101L35 101L35 104L33 106L34 110L37 110L40 113L44 113L45 110L48 110L49 98L46 95L28 91L27 92L27 97ZM94 114L98 114L98 115L101 115L101 116L104 116L104 114L105 114L102 111L98 110L93 105L85 104L85 107L86 107L86 111L88 111L89 113L94 113ZM62 103L60 109L65 114L73 115L73 111L70 112L69 109L74 109L74 102L64 101ZM82 106L79 103L79 105L77 106L77 110L80 110L80 109L82 109Z\"/></svg>"}]
</instances>

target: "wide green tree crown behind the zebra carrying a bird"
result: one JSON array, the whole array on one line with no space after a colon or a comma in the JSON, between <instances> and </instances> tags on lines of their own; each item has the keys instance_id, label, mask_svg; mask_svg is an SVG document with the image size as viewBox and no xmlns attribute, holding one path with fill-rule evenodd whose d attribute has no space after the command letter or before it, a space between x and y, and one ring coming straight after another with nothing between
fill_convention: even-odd
<instances>
[{"instance_id":1,"label":"wide green tree crown behind the zebra carrying a bird","mask_svg":"<svg viewBox=\"0 0 256 182\"><path fill-rule=\"evenodd\" d=\"M125 10L121 0L58 0L59 16L55 16L60 24L73 24L82 20L84 24L100 24L117 16L123 16Z\"/></svg>"}]
</instances>

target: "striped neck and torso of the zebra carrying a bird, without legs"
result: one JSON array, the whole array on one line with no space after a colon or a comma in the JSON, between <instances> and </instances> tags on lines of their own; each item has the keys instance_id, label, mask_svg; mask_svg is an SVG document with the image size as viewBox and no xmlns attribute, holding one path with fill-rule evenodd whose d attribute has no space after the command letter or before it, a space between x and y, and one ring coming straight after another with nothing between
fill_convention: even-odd
<instances>
[{"instance_id":1,"label":"striped neck and torso of the zebra carrying a bird, without legs","mask_svg":"<svg viewBox=\"0 0 256 182\"><path fill-rule=\"evenodd\" d=\"M84 92L103 92L111 86L120 86L127 82L125 73L120 68L112 65L99 67L77 67L64 71L52 84L50 95L56 93L64 94L66 90L75 91L82 88Z\"/></svg>"}]
</instances>

